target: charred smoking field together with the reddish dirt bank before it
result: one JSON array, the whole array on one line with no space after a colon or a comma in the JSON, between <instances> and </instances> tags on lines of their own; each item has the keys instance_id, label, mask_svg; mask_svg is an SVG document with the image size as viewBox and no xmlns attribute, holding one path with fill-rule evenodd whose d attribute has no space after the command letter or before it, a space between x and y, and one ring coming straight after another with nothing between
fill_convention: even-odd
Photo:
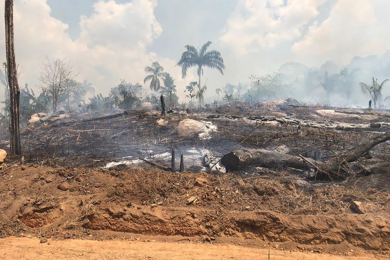
<instances>
[{"instance_id":1,"label":"charred smoking field together with the reddish dirt bank before it","mask_svg":"<svg viewBox=\"0 0 390 260\"><path fill-rule=\"evenodd\" d=\"M78 116L22 129L25 165L0 166L3 237L390 249L389 112L231 102L199 114Z\"/></svg>"}]
</instances>

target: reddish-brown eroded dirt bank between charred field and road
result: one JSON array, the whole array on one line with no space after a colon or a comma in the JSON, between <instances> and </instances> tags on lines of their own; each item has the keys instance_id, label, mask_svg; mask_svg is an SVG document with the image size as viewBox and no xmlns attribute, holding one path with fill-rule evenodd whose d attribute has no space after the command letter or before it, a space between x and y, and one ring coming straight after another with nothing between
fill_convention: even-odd
<instances>
[{"instance_id":1,"label":"reddish-brown eroded dirt bank between charred field and road","mask_svg":"<svg viewBox=\"0 0 390 260\"><path fill-rule=\"evenodd\" d=\"M209 242L236 237L390 249L389 192L372 183L364 191L347 182L311 184L282 172L243 178L148 166L7 167L0 183L2 237L98 239L99 230L110 230ZM367 212L354 213L353 201L362 201Z\"/></svg>"}]
</instances>

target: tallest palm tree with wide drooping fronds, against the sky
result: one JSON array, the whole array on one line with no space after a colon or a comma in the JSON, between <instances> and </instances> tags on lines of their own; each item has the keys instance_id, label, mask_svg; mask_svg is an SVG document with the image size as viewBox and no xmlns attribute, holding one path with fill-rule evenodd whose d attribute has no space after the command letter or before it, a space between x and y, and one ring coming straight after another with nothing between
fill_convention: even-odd
<instances>
[{"instance_id":1,"label":"tallest palm tree with wide drooping fronds, against the sky","mask_svg":"<svg viewBox=\"0 0 390 260\"><path fill-rule=\"evenodd\" d=\"M217 69L223 75L223 69L225 65L223 64L223 59L221 53L216 50L211 50L207 52L207 49L210 47L211 41L205 43L202 48L198 50L192 45L186 45L186 52L183 52L181 59L177 62L177 66L181 67L181 76L183 78L187 75L187 70L191 67L198 67L197 73L199 76L198 82L198 92L200 92L200 76L203 75L203 68L207 67L211 69ZM199 99L199 105L201 100Z\"/></svg>"}]
</instances>

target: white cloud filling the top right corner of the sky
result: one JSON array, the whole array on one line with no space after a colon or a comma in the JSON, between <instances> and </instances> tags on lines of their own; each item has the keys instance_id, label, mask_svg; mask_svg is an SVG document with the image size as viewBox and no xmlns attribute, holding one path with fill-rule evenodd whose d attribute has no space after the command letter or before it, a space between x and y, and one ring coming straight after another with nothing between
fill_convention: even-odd
<instances>
[{"instance_id":1,"label":"white cloud filling the top right corner of the sky","mask_svg":"<svg viewBox=\"0 0 390 260\"><path fill-rule=\"evenodd\" d=\"M292 51L300 60L332 59L340 63L354 56L381 55L390 48L390 4L379 0L339 0L330 16L309 27Z\"/></svg>"}]
</instances>

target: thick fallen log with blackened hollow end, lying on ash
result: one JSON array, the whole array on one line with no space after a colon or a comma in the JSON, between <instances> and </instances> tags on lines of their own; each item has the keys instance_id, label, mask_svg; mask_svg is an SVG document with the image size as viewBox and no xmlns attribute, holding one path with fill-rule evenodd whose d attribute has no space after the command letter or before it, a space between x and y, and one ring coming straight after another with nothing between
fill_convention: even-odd
<instances>
[{"instance_id":1,"label":"thick fallen log with blackened hollow end, lying on ash","mask_svg":"<svg viewBox=\"0 0 390 260\"><path fill-rule=\"evenodd\" d=\"M275 151L264 149L245 149L232 151L223 155L221 163L226 171L238 170L251 164L266 168L293 167L301 170L308 170L310 167L301 158Z\"/></svg>"}]
</instances>

